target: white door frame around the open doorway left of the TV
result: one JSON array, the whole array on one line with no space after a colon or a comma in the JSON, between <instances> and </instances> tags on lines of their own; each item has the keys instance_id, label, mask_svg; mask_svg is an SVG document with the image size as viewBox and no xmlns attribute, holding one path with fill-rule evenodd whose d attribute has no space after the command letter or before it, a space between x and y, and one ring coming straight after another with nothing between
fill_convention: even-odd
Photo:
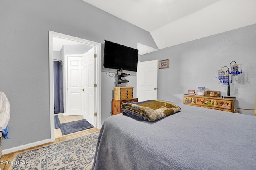
<instances>
[{"instance_id":1,"label":"white door frame around the open doorway left of the TV","mask_svg":"<svg viewBox=\"0 0 256 170\"><path fill-rule=\"evenodd\" d=\"M55 132L54 132L54 80L53 80L53 37L68 39L72 41L78 41L87 45L92 45L96 49L96 127L101 128L101 43L94 41L89 41L86 39L73 37L70 35L65 35L62 33L57 33L54 31L49 31L49 96L50 96L50 133L51 133L51 142L55 141Z\"/></svg>"}]
</instances>

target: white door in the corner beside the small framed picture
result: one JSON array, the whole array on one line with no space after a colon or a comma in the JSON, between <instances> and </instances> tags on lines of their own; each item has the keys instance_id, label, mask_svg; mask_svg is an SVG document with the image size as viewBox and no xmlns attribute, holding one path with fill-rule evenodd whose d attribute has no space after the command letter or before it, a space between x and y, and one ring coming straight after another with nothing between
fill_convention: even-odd
<instances>
[{"instance_id":1,"label":"white door in the corner beside the small framed picture","mask_svg":"<svg viewBox=\"0 0 256 170\"><path fill-rule=\"evenodd\" d=\"M157 99L158 60L138 62L137 98L138 101Z\"/></svg>"}]
</instances>

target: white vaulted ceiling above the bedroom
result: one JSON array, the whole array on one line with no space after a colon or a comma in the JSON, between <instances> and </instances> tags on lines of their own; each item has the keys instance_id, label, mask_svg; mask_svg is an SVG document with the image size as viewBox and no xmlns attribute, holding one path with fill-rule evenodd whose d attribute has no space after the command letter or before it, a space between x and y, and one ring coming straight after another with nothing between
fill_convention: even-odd
<instances>
[{"instance_id":1,"label":"white vaulted ceiling above the bedroom","mask_svg":"<svg viewBox=\"0 0 256 170\"><path fill-rule=\"evenodd\" d=\"M83 1L150 32L158 49L256 23L256 0Z\"/></svg>"}]
</instances>

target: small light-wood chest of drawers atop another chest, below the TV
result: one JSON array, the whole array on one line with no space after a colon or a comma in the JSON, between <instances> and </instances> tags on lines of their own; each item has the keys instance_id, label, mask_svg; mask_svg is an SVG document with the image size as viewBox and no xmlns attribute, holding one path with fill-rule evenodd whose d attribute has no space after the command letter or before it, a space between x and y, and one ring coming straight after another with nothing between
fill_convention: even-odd
<instances>
[{"instance_id":1,"label":"small light-wood chest of drawers atop another chest, below the TV","mask_svg":"<svg viewBox=\"0 0 256 170\"><path fill-rule=\"evenodd\" d=\"M114 87L114 99L127 100L133 98L133 87Z\"/></svg>"}]
</instances>

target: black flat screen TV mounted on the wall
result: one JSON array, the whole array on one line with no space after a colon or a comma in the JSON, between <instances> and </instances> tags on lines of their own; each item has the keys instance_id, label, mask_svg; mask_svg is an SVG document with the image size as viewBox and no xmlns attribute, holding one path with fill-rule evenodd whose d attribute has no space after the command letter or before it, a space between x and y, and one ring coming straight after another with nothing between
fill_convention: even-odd
<instances>
[{"instance_id":1,"label":"black flat screen TV mounted on the wall","mask_svg":"<svg viewBox=\"0 0 256 170\"><path fill-rule=\"evenodd\" d=\"M104 68L137 71L138 50L110 41L104 42Z\"/></svg>"}]
</instances>

